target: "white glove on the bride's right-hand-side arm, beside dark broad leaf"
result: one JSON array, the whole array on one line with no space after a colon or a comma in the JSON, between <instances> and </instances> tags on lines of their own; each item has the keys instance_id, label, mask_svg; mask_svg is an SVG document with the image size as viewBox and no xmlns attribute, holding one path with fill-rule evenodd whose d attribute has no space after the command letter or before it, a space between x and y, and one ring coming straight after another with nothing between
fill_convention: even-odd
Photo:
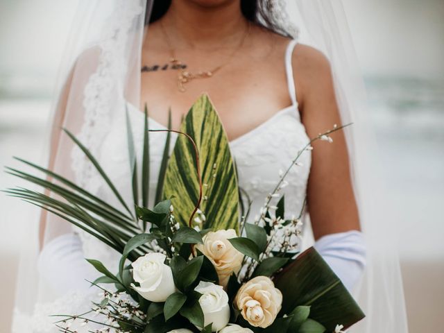
<instances>
[{"instance_id":1,"label":"white glove on the bride's right-hand-side arm, beside dark broad leaf","mask_svg":"<svg viewBox=\"0 0 444 333\"><path fill-rule=\"evenodd\" d=\"M352 230L327 234L315 242L314 248L338 275L345 288L352 291L366 266L366 246L362 232Z\"/></svg>"}]
</instances>

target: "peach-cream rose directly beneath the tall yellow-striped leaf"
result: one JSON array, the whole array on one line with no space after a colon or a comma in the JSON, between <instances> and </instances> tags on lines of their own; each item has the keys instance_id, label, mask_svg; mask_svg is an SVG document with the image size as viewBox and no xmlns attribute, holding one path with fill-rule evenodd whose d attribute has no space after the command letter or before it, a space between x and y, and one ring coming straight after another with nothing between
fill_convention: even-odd
<instances>
[{"instance_id":1,"label":"peach-cream rose directly beneath the tall yellow-striped leaf","mask_svg":"<svg viewBox=\"0 0 444 333\"><path fill-rule=\"evenodd\" d=\"M244 255L231 245L228 239L237 237L234 229L217 230L208 232L203 237L203 244L196 248L205 255L216 268L219 276L219 284L225 287L232 273L238 273L241 269Z\"/></svg>"}]
</instances>

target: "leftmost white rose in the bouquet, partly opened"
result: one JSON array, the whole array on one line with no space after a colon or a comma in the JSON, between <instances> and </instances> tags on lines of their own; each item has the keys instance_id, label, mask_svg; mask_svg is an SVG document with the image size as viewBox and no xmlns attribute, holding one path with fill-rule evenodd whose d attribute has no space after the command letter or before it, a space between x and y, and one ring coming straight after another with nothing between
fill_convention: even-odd
<instances>
[{"instance_id":1,"label":"leftmost white rose in the bouquet, partly opened","mask_svg":"<svg viewBox=\"0 0 444 333\"><path fill-rule=\"evenodd\" d=\"M166 257L162 253L148 253L131 264L133 279L140 284L140 287L135 284L131 287L151 302L164 302L177 291L171 268L164 264Z\"/></svg>"}]
</instances>

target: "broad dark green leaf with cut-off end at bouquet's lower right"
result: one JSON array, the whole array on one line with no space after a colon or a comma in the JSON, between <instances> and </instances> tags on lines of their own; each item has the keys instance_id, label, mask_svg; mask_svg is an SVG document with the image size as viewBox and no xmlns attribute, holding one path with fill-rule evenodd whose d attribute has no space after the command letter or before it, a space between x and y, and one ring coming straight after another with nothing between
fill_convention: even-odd
<instances>
[{"instance_id":1,"label":"broad dark green leaf with cut-off end at bouquet's lower right","mask_svg":"<svg viewBox=\"0 0 444 333\"><path fill-rule=\"evenodd\" d=\"M282 314L309 305L310 318L322 323L327 332L334 331L337 323L349 327L364 318L341 280L313 247L275 276L275 286L285 295Z\"/></svg>"}]
</instances>

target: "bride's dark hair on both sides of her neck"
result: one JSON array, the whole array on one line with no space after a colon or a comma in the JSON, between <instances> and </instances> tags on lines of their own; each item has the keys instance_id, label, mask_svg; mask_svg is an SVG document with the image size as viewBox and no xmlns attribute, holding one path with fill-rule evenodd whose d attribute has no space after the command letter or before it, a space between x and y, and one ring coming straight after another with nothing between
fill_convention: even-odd
<instances>
[{"instance_id":1,"label":"bride's dark hair on both sides of her neck","mask_svg":"<svg viewBox=\"0 0 444 333\"><path fill-rule=\"evenodd\" d=\"M153 0L151 15L146 15L147 18L149 17L149 23L156 22L157 19L164 16L170 5L171 0ZM276 19L270 15L272 7L272 0L241 0L241 11L248 21L263 26L280 35L292 37L291 34L280 26L280 24L276 22ZM149 10L149 6L146 6L146 14L148 14Z\"/></svg>"}]
</instances>

